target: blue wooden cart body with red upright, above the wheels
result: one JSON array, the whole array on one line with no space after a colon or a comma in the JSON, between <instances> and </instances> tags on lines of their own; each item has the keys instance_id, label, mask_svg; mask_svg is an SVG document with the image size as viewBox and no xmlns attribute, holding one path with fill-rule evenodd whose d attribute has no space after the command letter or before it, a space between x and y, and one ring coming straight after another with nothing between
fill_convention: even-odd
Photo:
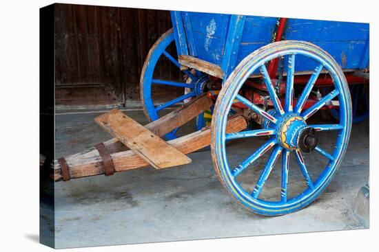
<instances>
[{"instance_id":1,"label":"blue wooden cart body with red upright, above the wheels","mask_svg":"<svg viewBox=\"0 0 379 252\"><path fill-rule=\"evenodd\" d=\"M213 70L207 73L216 77L229 76L252 51L278 40L314 43L328 51L344 71L366 69L369 64L368 23L178 11L171 16L178 55L184 56L179 60L183 63L187 56L204 60ZM282 21L285 24L279 25ZM296 60L297 74L314 67L316 62Z\"/></svg>"}]
</instances>

